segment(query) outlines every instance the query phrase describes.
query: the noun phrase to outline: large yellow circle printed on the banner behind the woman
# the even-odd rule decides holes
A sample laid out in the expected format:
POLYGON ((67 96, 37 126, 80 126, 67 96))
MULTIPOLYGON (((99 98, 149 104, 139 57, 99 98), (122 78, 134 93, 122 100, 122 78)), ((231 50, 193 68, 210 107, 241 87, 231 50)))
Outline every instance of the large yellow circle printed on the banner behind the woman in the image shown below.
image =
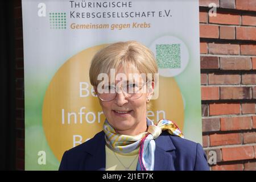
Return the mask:
MULTIPOLYGON (((85 142, 102 130, 105 116, 89 82, 90 61, 107 46, 91 47, 67 60, 53 76, 44 96, 42 119, 47 142, 60 161, 64 151, 85 142)), ((159 97, 152 100, 148 118, 163 117, 182 130, 183 99, 172 77, 159 76, 159 97)))

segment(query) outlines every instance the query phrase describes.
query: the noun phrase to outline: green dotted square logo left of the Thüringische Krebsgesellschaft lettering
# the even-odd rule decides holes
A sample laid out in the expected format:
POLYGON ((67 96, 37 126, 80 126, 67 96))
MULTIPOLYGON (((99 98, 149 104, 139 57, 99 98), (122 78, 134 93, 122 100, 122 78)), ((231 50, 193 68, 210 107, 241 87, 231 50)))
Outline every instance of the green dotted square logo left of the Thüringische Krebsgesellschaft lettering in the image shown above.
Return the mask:
POLYGON ((66 29, 66 13, 49 13, 49 24, 51 29, 66 29))

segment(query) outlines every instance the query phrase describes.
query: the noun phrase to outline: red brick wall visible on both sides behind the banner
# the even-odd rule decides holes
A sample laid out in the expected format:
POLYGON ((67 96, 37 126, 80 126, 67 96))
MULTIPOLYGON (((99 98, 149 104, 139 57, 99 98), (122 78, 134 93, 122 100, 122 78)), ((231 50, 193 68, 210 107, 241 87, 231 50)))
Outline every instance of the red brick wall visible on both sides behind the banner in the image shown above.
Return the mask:
MULTIPOLYGON (((24 169, 21 1, 15 0, 16 169, 24 169)), ((203 147, 212 170, 256 170, 256 0, 200 0, 203 147), (209 3, 217 16, 209 17, 209 3)))

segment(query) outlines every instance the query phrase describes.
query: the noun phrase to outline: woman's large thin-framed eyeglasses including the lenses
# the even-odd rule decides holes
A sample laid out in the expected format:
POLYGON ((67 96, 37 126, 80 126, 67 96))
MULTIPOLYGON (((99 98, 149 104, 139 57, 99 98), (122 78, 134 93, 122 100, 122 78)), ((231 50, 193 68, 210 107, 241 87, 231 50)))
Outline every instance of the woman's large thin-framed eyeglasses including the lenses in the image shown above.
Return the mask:
POLYGON ((123 93, 125 98, 130 100, 136 100, 142 96, 143 93, 146 93, 147 90, 143 89, 144 86, 148 83, 123 83, 121 86, 115 86, 112 84, 104 84, 100 88, 97 88, 97 96, 100 98, 101 101, 113 101, 117 93, 123 93))

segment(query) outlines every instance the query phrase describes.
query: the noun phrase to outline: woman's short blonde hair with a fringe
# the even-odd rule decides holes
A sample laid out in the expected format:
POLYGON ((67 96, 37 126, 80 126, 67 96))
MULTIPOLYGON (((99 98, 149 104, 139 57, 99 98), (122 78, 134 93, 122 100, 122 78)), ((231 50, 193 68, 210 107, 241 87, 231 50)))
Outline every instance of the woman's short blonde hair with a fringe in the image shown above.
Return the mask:
POLYGON ((155 73, 158 73, 154 53, 139 42, 127 41, 110 44, 94 55, 89 71, 90 84, 98 85, 100 80, 97 80, 97 77, 100 73, 109 74, 110 69, 125 69, 130 64, 137 68, 139 73, 152 73, 154 81, 155 73))

